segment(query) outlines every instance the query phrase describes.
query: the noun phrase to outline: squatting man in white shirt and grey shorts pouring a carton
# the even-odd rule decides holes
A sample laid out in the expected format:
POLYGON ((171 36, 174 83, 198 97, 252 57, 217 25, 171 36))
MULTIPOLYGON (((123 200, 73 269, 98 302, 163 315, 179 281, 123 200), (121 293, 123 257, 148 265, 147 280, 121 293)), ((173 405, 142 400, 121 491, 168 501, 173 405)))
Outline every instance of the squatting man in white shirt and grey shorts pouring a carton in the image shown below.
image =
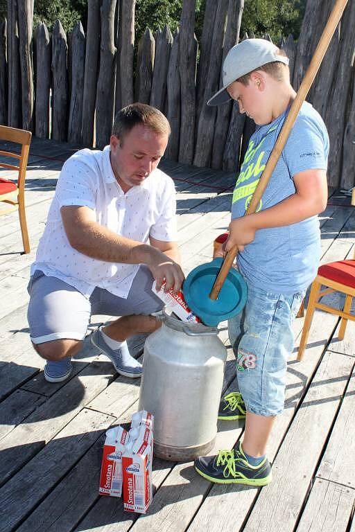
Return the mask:
POLYGON ((159 328, 153 280, 174 291, 184 280, 175 188, 157 169, 169 134, 161 112, 132 104, 116 115, 110 145, 63 165, 28 285, 31 340, 49 382, 69 376, 91 314, 120 316, 92 343, 121 375, 141 375, 126 340, 159 328))

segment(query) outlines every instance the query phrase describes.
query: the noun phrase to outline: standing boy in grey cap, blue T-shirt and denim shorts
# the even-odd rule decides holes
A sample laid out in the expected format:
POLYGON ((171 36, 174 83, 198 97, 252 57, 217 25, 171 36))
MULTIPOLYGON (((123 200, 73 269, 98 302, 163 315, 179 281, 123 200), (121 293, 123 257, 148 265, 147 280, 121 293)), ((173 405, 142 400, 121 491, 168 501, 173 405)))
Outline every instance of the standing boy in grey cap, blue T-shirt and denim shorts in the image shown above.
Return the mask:
POLYGON ((227 54, 223 89, 208 102, 233 98, 257 125, 234 189, 225 243, 225 252, 238 247, 248 302, 228 324, 240 393, 221 400, 218 418, 245 418, 244 438, 232 451, 195 463, 200 475, 217 483, 265 486, 271 480, 266 444, 284 407, 291 325, 317 273, 329 139, 309 103, 300 109, 257 212, 244 216, 295 95, 282 51, 264 39, 246 39, 227 54))

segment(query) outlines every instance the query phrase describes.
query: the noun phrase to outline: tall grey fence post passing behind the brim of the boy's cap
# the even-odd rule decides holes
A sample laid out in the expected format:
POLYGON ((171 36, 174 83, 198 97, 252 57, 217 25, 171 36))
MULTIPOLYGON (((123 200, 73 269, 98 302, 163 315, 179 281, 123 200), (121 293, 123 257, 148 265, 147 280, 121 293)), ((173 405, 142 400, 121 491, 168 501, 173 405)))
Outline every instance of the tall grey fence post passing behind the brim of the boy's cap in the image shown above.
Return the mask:
MULTIPOLYGON (((225 39, 223 42, 222 64, 230 48, 239 42, 239 32, 241 29, 241 16, 243 13, 244 0, 230 0, 227 12, 227 27, 225 29, 225 39)), ((219 88, 223 87, 223 73, 220 69, 219 88)), ((218 105, 214 130, 214 143, 211 156, 211 168, 222 168, 223 152, 225 141, 227 140, 230 117, 232 114, 233 102, 225 105, 218 105)))

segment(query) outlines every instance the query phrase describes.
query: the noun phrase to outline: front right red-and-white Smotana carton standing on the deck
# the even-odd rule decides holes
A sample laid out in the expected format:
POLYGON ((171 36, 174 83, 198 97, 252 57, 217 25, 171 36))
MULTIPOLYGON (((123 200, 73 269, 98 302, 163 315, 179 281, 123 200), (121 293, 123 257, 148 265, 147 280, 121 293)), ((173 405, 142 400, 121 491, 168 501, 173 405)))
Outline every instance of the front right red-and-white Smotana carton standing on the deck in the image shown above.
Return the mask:
POLYGON ((152 423, 141 423, 130 429, 130 443, 122 456, 123 509, 128 512, 146 513, 153 499, 151 418, 152 423))

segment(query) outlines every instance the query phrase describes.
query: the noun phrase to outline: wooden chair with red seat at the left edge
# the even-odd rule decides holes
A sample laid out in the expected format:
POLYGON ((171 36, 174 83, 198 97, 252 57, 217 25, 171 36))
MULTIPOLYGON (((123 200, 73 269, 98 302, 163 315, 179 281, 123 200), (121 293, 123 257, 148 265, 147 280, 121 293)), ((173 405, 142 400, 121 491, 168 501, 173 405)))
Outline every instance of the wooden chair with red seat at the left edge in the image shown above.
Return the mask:
POLYGON ((6 202, 12 205, 8 209, 1 209, 0 215, 17 211, 18 209, 22 242, 24 243, 24 253, 30 252, 25 214, 24 188, 31 136, 32 133, 30 131, 17 130, 15 127, 6 127, 5 125, 0 125, 0 141, 21 144, 20 155, 17 153, 0 150, 1 156, 11 157, 12 159, 17 159, 17 161, 19 161, 18 165, 8 164, 0 161, 0 167, 9 168, 10 170, 17 170, 18 172, 17 184, 13 181, 9 181, 8 179, 3 179, 0 177, 0 202, 6 202))

